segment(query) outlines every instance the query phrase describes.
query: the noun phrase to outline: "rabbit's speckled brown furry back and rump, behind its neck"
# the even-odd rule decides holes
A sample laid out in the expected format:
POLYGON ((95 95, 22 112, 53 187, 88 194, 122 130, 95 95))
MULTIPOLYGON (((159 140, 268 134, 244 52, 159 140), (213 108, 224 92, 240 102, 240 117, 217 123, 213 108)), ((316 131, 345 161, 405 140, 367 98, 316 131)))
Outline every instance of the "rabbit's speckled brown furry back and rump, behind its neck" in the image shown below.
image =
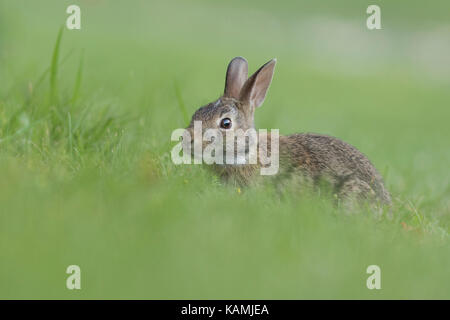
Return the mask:
POLYGON ((280 140, 280 151, 289 165, 315 182, 330 182, 342 197, 361 196, 390 203, 383 179, 370 160, 352 145, 337 138, 314 133, 293 134, 280 140))

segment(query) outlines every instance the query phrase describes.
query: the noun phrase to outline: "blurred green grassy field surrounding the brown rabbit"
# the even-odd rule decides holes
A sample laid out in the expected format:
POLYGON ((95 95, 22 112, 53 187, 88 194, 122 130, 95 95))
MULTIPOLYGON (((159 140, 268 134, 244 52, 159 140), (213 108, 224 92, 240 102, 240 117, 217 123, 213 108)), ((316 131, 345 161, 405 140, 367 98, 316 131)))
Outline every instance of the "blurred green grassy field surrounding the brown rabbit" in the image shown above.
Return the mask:
POLYGON ((0 298, 449 299, 450 5, 314 3, 1 0, 0 298), (238 55, 278 58, 257 127, 355 145, 392 220, 172 163, 238 55))

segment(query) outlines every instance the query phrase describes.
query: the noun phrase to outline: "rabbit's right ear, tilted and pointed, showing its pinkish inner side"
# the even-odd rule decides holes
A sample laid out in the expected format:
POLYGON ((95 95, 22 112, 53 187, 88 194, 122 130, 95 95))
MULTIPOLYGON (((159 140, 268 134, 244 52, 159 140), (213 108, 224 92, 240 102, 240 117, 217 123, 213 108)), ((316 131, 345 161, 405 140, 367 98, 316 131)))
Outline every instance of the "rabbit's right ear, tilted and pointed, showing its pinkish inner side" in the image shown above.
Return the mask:
POLYGON ((262 105, 270 83, 272 82, 276 63, 277 59, 270 60, 248 78, 242 87, 239 100, 245 104, 249 104, 252 108, 257 108, 262 105))

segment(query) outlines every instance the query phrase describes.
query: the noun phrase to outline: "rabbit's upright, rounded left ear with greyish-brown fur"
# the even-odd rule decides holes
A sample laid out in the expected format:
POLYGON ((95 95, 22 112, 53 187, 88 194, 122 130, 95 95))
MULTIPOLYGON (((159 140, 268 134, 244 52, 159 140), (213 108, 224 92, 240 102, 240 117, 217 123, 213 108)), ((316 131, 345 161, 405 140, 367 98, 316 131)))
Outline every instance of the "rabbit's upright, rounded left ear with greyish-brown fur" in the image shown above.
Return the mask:
POLYGON ((236 57, 231 60, 227 69, 225 79, 224 96, 239 99, 239 93, 248 77, 247 60, 242 57, 236 57))

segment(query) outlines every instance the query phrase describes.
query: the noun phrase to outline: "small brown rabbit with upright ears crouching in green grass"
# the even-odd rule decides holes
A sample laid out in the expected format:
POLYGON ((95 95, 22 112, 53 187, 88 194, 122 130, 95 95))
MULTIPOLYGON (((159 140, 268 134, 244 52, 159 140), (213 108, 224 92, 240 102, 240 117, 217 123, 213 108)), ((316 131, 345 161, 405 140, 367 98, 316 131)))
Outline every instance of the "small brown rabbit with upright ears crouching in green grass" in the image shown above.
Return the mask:
MULTIPOLYGON (((229 130, 253 129, 255 109, 264 102, 276 62, 276 59, 270 60, 248 78, 247 61, 242 57, 232 59, 226 72, 224 94, 199 108, 187 130, 193 132, 195 121, 201 121, 203 131, 218 129, 223 134, 229 130)), ((267 134, 266 138, 271 141, 272 137, 267 134)), ((192 138, 185 143, 192 146, 192 138)), ((266 149, 271 152, 270 148, 266 149)), ((337 138, 315 133, 280 136, 278 156, 280 169, 275 178, 281 185, 283 181, 296 181, 300 187, 320 188, 325 181, 337 199, 369 199, 391 204, 383 179, 369 159, 337 138)), ((224 180, 245 186, 263 177, 258 172, 261 166, 258 161, 255 164, 213 164, 211 167, 224 180)))

